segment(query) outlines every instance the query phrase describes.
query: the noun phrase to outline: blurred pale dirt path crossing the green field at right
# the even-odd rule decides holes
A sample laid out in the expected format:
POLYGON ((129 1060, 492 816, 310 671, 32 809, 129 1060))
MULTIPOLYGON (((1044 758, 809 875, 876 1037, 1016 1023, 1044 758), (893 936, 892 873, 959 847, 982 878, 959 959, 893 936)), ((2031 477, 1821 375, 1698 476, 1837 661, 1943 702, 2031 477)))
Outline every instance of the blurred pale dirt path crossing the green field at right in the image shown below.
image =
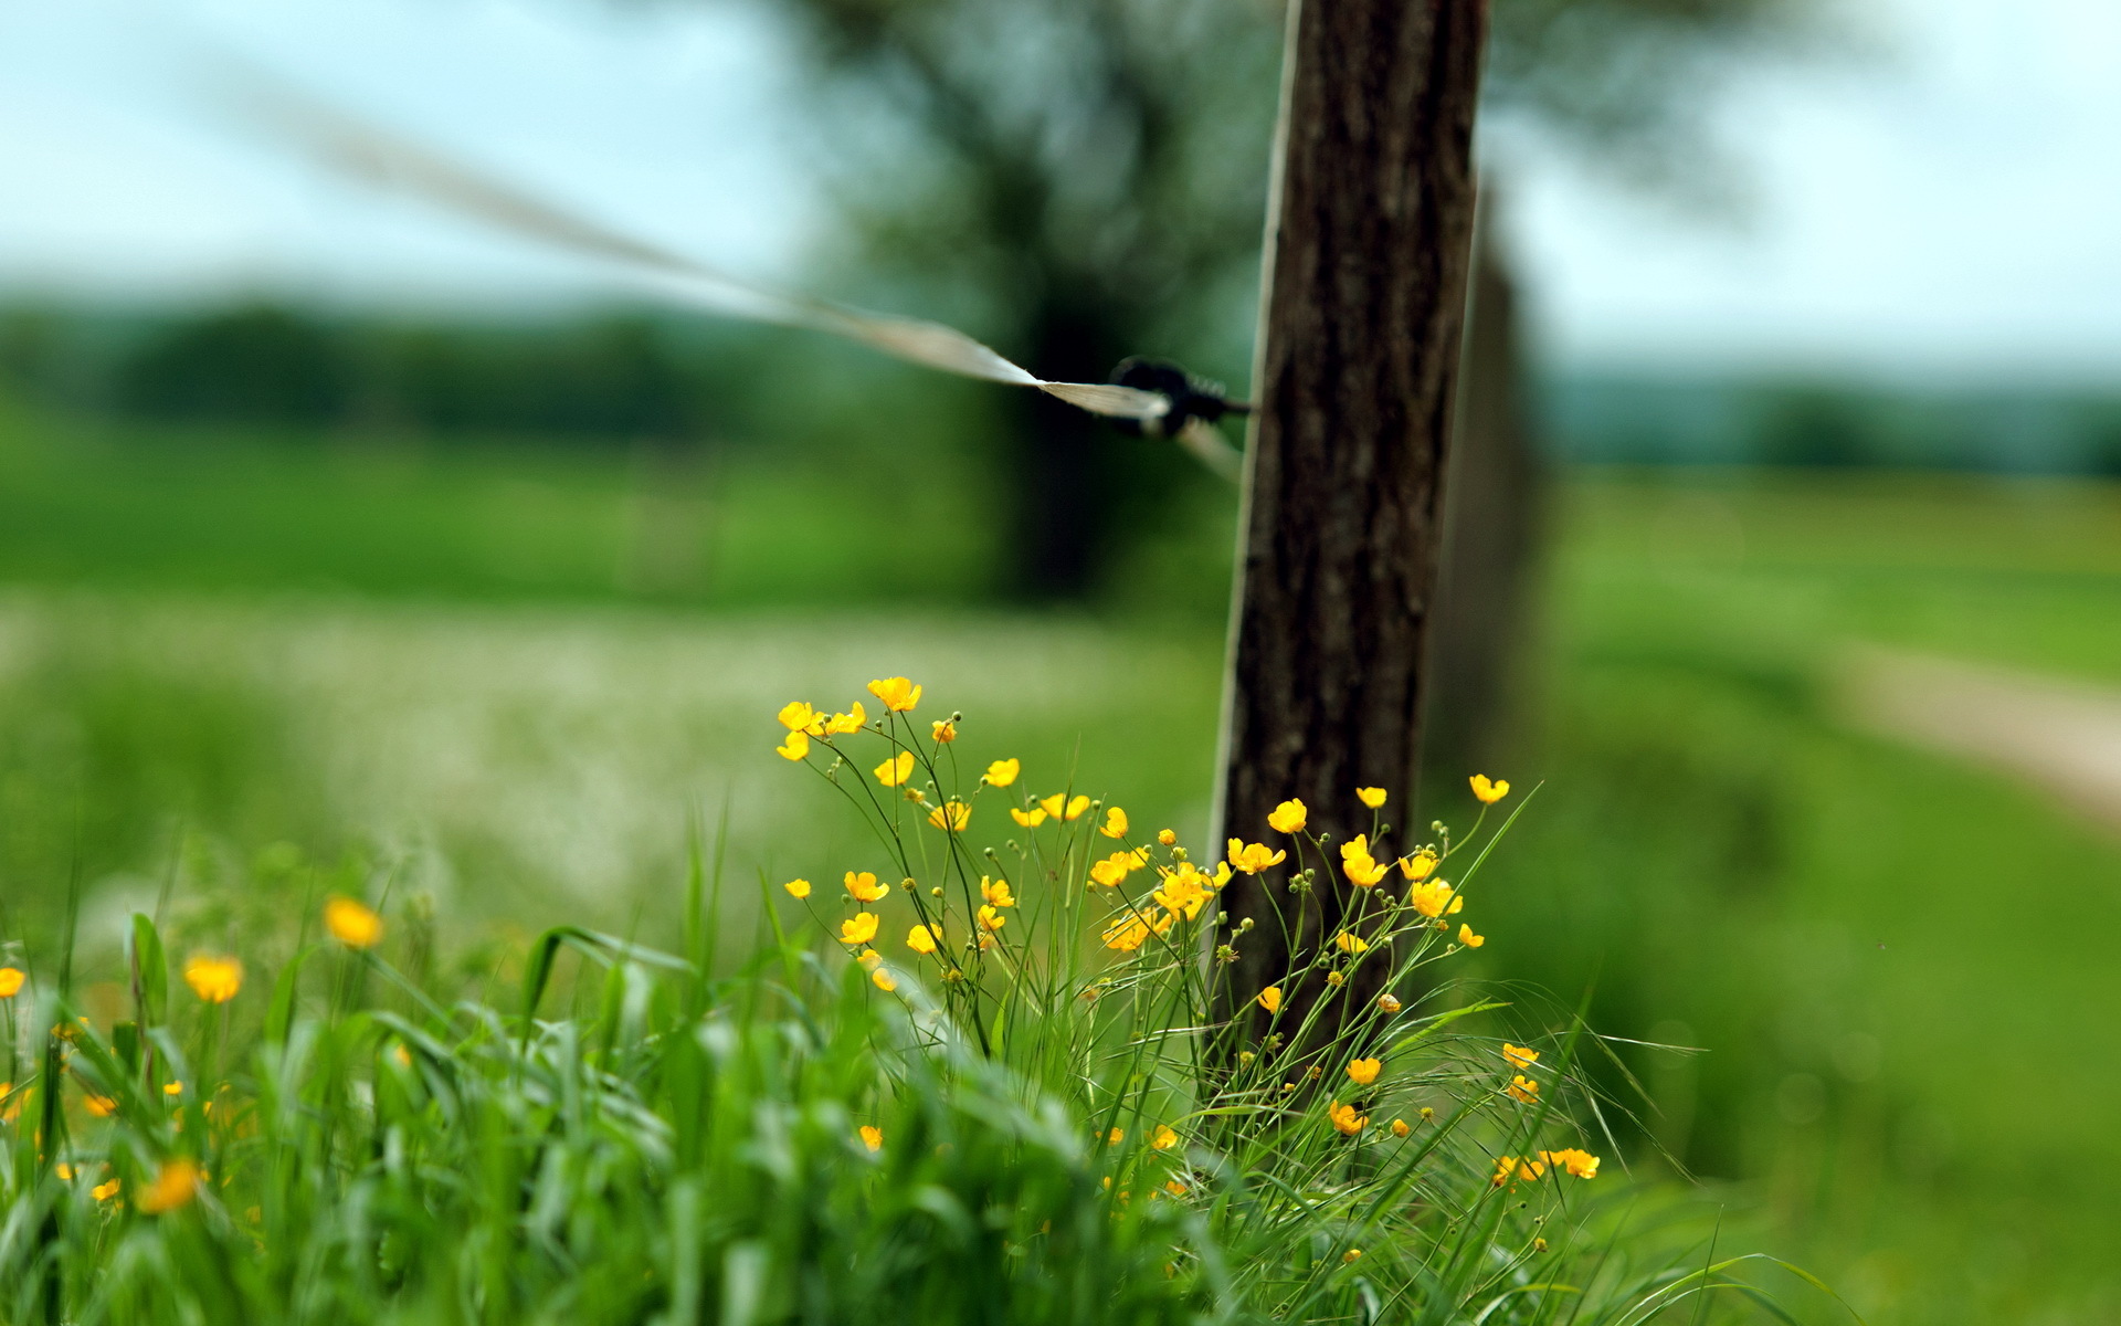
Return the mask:
POLYGON ((1883 649, 1852 656, 1841 681, 1860 726, 2004 768, 2121 830, 2121 692, 1883 649))

